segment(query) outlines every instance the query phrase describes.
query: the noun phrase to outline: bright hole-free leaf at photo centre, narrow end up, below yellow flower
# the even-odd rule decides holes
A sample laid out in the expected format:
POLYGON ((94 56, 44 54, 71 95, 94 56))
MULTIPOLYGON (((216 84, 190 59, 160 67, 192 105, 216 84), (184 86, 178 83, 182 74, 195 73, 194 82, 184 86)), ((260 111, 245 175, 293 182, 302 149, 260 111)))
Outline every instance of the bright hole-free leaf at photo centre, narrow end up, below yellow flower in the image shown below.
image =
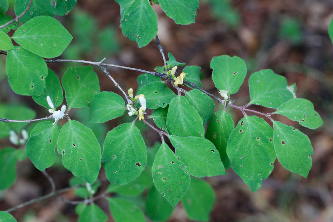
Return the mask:
POLYGON ((171 100, 166 115, 166 127, 171 135, 197 137, 204 135, 199 113, 183 96, 171 100))

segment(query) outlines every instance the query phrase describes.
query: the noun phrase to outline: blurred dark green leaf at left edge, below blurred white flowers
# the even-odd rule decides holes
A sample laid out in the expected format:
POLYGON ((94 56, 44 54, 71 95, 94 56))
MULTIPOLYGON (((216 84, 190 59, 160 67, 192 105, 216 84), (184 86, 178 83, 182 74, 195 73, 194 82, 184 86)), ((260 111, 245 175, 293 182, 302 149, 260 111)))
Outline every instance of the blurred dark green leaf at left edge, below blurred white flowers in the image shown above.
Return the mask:
POLYGON ((17 153, 14 148, 0 149, 0 190, 9 188, 15 182, 16 163, 17 153))

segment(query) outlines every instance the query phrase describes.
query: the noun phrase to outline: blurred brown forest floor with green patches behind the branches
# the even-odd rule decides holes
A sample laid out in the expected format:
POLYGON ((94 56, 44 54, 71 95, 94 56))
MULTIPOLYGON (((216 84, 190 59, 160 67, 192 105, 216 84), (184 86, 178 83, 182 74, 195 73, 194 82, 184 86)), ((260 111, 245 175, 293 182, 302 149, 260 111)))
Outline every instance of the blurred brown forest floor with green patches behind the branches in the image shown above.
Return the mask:
MULTIPOLYGON (((10 1, 8 15, 14 15, 14 1, 10 1)), ((226 176, 205 178, 214 188, 216 201, 210 221, 333 221, 333 44, 327 29, 333 17, 332 0, 199 0, 200 6, 194 24, 176 25, 168 18, 159 5, 153 6, 158 14, 158 36, 165 54, 171 52, 177 61, 186 65, 197 65, 203 73, 202 87, 217 94, 211 80, 210 60, 213 56, 227 54, 245 60, 248 73, 237 94, 232 95, 236 105, 249 101, 248 78, 260 69, 272 69, 287 78, 288 84, 296 82, 297 97, 313 102, 324 124, 309 130, 297 122, 277 115, 275 120, 295 126, 311 140, 314 153, 312 168, 308 177, 302 178, 285 170, 275 161, 274 171, 264 180, 262 187, 253 193, 230 168, 226 176)), ((162 66, 163 60, 155 40, 143 48, 122 34, 120 7, 110 0, 80 0, 67 16, 56 18, 73 35, 73 41, 65 50, 62 59, 84 59, 123 65, 154 71, 162 66)), ((12 31, 13 32, 13 31, 12 31)), ((9 33, 10 36, 12 33, 9 33)), ((1 104, 25 105, 36 112, 36 118, 48 115, 29 96, 15 94, 5 73, 5 55, 0 55, 0 99, 1 104)), ((83 64, 48 64, 59 78, 70 66, 83 64)), ((94 67, 100 80, 101 91, 121 94, 112 81, 94 67)), ((126 91, 138 87, 139 72, 108 68, 115 80, 126 91)), ((186 86, 185 86, 186 88, 186 86)), ((187 88, 188 89, 188 88, 187 88)), ((0 105, 1 105, 0 104, 0 105)), ((215 111, 223 110, 215 103, 215 111)), ((269 112, 264 107, 252 109, 269 112)), ((27 108, 21 108, 22 112, 27 108)), ((17 109, 17 112, 21 112, 17 109)), ((238 110, 227 109, 234 122, 242 118, 238 110)), ((86 122, 89 108, 73 109, 71 118, 86 122)), ((0 116, 1 117, 1 116, 0 116)), ((132 121, 123 117, 104 124, 91 124, 100 144, 106 133, 117 125, 132 121)), ((152 120, 150 120, 152 121, 152 120)), ((66 120, 60 120, 62 125, 66 120)), ((147 146, 153 146, 160 137, 142 122, 141 129, 147 146)), ((26 126, 30 133, 34 124, 26 126)), ((1 148, 13 146, 8 137, 0 140, 1 148)), ((61 164, 60 155, 55 164, 47 169, 55 180, 57 189, 69 186, 72 174, 61 164)), ((105 179, 104 169, 99 178, 105 179)), ((100 190, 105 190, 103 183, 100 190)), ((51 186, 44 175, 29 159, 17 164, 17 179, 13 186, 0 191, 0 209, 18 205, 30 199, 45 195, 51 186)), ((133 197, 144 208, 145 191, 133 197)), ((62 195, 68 200, 80 200, 73 191, 62 195)), ((106 200, 97 204, 109 215, 106 200)), ((18 221, 76 221, 75 206, 65 204, 51 197, 12 212, 18 221)), ((168 221, 189 221, 181 204, 178 204, 168 221)))

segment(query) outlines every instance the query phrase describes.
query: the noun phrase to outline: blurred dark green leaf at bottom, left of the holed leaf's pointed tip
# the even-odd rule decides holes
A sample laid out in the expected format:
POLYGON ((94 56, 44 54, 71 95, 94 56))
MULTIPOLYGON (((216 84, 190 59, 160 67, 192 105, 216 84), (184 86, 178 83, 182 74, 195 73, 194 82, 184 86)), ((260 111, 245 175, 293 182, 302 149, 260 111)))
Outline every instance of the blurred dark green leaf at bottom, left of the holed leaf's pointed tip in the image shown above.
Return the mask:
POLYGON ((170 203, 152 186, 146 199, 147 216, 154 221, 166 221, 172 210, 170 203))

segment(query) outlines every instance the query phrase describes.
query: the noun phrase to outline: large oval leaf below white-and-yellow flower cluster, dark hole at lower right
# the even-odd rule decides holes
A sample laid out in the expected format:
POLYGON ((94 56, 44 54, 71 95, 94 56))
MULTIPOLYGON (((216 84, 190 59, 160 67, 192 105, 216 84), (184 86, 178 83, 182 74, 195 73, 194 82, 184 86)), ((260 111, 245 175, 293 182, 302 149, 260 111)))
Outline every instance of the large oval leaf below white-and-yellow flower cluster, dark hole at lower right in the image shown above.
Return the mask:
POLYGON ((126 184, 146 167, 146 145, 134 123, 121 124, 108 132, 103 147, 102 163, 111 183, 126 184))

